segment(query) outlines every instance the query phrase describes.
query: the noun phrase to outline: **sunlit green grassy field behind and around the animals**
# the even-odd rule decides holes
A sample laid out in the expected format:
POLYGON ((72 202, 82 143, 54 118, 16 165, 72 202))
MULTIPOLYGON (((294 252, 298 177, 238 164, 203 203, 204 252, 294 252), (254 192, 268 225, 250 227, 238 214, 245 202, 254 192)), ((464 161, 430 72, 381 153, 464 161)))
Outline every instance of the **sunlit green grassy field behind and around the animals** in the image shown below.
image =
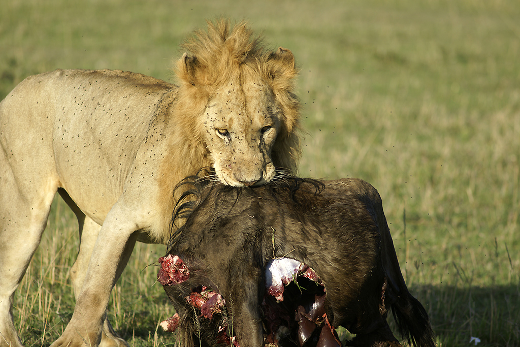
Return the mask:
MULTIPOLYGON (((171 80, 180 40, 218 15, 247 19, 272 47, 292 50, 307 131, 300 174, 378 188, 438 345, 519 346, 517 1, 3 0, 0 99, 56 68, 171 80)), ((72 315, 77 242, 57 199, 15 299, 26 346, 49 345, 72 315)), ((112 293, 112 323, 131 345, 175 343, 157 329, 173 309, 147 267, 164 250, 136 247, 112 293)))

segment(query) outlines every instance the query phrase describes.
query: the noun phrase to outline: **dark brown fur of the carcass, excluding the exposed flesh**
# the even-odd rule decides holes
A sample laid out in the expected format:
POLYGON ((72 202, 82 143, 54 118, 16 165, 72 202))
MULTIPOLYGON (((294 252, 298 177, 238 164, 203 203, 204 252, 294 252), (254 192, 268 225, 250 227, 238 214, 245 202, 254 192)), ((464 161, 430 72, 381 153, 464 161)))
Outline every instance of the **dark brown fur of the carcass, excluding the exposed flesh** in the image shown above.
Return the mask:
POLYGON ((330 324, 356 334, 347 345, 399 346, 386 323, 390 307, 403 338, 435 345, 426 311, 401 275, 381 198, 367 182, 288 178, 254 188, 209 185, 196 194, 196 202, 177 211, 177 220, 187 206, 189 214, 168 250, 185 262, 190 278, 164 286, 180 316, 181 345, 223 345, 217 331, 226 316, 241 347, 263 346, 265 268, 282 256, 321 278, 330 324), (201 285, 226 300, 220 318, 199 317, 186 302, 201 285))

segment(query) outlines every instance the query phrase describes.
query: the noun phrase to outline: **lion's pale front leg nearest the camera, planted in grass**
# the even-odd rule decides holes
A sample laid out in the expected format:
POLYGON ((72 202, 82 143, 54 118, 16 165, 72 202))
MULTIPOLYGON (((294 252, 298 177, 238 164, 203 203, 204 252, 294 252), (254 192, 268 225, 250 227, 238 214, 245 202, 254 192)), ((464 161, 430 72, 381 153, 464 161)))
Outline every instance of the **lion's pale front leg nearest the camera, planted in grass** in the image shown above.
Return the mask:
POLYGON ((134 233, 136 224, 124 214, 116 213, 118 210, 114 205, 101 227, 72 318, 51 347, 127 345, 114 335, 108 323, 105 324, 110 292, 123 272, 137 239, 134 233), (106 339, 101 341, 103 330, 107 330, 108 334, 105 331, 106 339))

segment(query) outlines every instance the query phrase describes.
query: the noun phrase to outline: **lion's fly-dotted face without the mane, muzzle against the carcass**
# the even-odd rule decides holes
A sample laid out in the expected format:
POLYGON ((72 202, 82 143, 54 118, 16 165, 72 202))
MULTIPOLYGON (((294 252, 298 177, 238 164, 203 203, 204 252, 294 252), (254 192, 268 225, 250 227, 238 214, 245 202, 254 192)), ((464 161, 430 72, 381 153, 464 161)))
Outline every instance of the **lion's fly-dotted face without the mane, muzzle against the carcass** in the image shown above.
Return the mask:
POLYGON ((279 113, 271 89, 259 80, 230 82, 213 95, 203 115, 204 134, 222 183, 251 186, 274 177, 279 113))

